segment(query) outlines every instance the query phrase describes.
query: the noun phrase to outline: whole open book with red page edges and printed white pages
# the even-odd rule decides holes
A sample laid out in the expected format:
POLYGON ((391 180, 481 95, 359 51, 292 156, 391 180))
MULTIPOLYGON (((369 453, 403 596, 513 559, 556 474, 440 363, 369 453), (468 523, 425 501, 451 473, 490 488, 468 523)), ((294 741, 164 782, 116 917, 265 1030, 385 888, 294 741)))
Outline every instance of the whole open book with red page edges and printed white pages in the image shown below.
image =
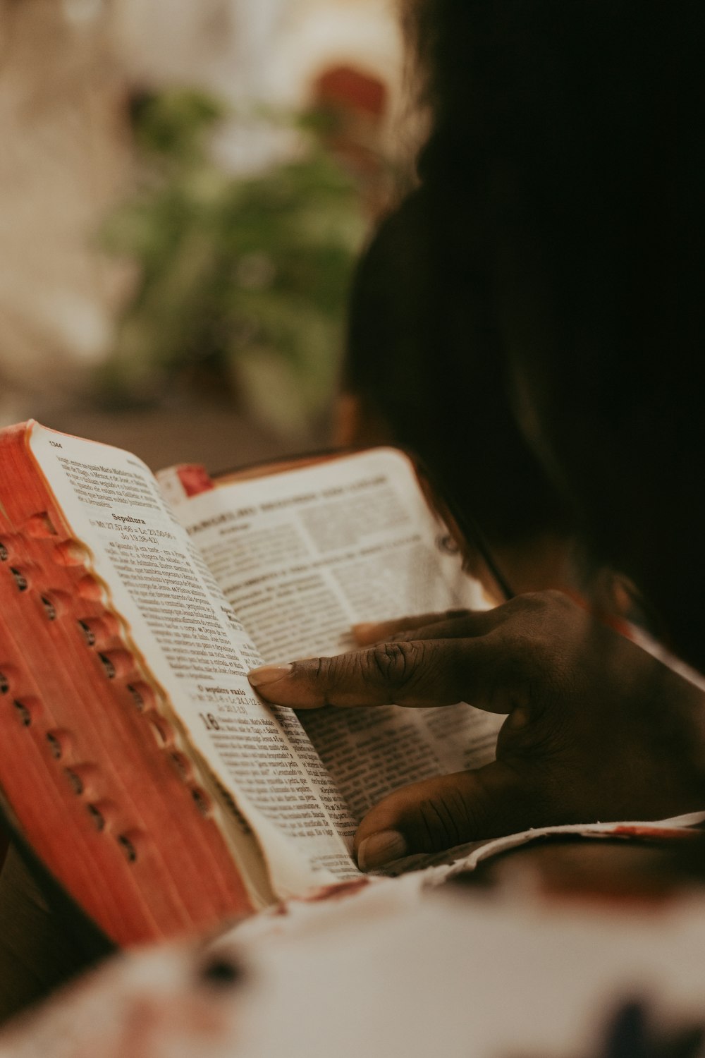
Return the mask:
POLYGON ((486 605, 392 449, 217 482, 29 422, 0 433, 0 790, 120 944, 359 877, 392 789, 493 759, 501 717, 265 706, 264 661, 356 621, 486 605))

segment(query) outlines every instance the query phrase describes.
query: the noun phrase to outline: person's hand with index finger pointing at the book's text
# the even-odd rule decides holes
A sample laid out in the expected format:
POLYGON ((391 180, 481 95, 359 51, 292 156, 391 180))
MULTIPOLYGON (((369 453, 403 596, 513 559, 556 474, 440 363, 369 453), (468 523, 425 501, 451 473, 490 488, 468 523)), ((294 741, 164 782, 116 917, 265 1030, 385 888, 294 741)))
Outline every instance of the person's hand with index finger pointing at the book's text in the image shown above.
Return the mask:
POLYGON ((560 592, 368 625, 361 638, 376 642, 251 681, 295 709, 465 700, 508 713, 493 764, 405 786, 368 813, 355 836, 364 869, 532 826, 705 806, 705 694, 560 592))

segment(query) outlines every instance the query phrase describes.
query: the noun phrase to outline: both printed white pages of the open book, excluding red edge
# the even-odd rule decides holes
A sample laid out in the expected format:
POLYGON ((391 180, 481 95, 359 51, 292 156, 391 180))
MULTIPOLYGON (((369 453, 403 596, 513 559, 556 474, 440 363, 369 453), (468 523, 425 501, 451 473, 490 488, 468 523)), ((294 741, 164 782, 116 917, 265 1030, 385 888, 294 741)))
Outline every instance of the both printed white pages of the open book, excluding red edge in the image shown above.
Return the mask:
POLYGON ((108 675, 117 688, 124 664, 137 709, 166 722, 169 756, 196 776, 197 807, 253 908, 357 878, 352 836, 372 804, 491 760, 501 717, 467 705, 298 717, 246 679, 263 661, 351 649, 358 621, 486 605, 406 455, 368 450, 193 490, 178 470, 160 487, 135 456, 37 423, 24 443, 85 548, 91 587, 77 594, 115 625, 125 658, 111 641, 108 675))

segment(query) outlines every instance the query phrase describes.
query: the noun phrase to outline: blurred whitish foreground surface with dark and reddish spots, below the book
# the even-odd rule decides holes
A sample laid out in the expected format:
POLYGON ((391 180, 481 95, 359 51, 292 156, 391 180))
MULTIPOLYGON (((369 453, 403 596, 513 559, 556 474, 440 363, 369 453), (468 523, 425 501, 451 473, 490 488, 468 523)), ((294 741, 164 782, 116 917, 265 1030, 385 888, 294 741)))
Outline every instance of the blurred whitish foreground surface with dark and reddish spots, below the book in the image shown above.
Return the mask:
POLYGON ((702 880, 645 887, 639 862, 626 890, 615 888, 619 871, 593 867, 592 893, 556 891, 555 870, 552 887, 535 860, 507 863, 499 893, 423 893, 406 875, 344 898, 292 901, 208 943, 110 960, 11 1024, 0 1056, 704 1053, 702 880), (611 883, 595 889, 600 876, 611 883))

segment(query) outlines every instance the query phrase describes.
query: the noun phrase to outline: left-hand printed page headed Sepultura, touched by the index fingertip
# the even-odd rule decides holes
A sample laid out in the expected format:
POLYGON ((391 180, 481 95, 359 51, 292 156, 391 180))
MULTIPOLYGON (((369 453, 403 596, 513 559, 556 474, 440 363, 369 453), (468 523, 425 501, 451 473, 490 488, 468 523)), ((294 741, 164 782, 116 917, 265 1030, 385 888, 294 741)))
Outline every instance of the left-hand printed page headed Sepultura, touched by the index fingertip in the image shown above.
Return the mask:
MULTIPOLYGON (((356 877, 353 823, 301 725, 246 672, 260 655, 135 456, 35 423, 31 451, 107 586, 162 708, 233 796, 279 895, 356 877), (345 836, 345 837, 341 837, 345 836)), ((225 799, 227 803, 227 799, 225 799)))

